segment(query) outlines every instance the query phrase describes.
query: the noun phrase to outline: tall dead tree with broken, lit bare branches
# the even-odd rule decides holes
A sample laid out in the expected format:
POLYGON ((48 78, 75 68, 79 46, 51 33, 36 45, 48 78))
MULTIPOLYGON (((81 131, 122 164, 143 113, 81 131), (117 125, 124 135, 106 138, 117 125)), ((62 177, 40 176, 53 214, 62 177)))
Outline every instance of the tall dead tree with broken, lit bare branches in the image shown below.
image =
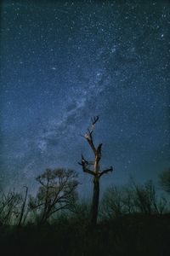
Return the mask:
POLYGON ((113 171, 112 166, 108 169, 105 169, 104 171, 100 171, 100 168, 99 168, 99 161, 101 159, 102 143, 100 143, 98 147, 95 147, 94 139, 93 139, 94 125, 97 123, 98 120, 99 120, 99 116, 94 116, 94 118, 91 119, 91 121, 92 121, 91 128, 88 129, 88 131, 83 136, 83 137, 85 137, 90 148, 92 148, 92 150, 94 152, 94 161, 85 160, 85 158, 82 155, 82 161, 81 161, 81 163, 79 163, 79 165, 82 166, 82 171, 87 172, 88 174, 91 174, 94 178, 94 194, 93 194, 93 201, 92 201, 92 207, 91 207, 91 223, 93 225, 97 224, 97 218, 98 218, 99 178, 102 177, 104 174, 113 171), (91 169, 90 166, 92 166, 93 169, 91 169))

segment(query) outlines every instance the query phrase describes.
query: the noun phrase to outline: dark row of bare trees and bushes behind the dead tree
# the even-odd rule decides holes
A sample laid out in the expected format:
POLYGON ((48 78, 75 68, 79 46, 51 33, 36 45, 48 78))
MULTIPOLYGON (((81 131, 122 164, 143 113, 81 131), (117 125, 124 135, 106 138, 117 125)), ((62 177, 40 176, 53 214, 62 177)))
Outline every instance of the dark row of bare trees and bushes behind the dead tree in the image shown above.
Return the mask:
MULTIPOLYGON (((167 192, 168 173, 169 170, 159 177, 160 187, 167 192)), ((71 218, 83 217, 85 212, 90 215, 91 199, 85 202, 79 198, 76 172, 62 168, 47 169, 36 179, 39 188, 35 196, 29 195, 28 187, 23 188, 22 194, 14 190, 6 194, 1 192, 1 225, 53 224, 61 213, 71 218)), ((128 186, 112 185, 105 190, 99 202, 99 222, 127 214, 162 215, 169 211, 168 196, 160 195, 151 180, 144 184, 136 184, 132 180, 128 186)))

